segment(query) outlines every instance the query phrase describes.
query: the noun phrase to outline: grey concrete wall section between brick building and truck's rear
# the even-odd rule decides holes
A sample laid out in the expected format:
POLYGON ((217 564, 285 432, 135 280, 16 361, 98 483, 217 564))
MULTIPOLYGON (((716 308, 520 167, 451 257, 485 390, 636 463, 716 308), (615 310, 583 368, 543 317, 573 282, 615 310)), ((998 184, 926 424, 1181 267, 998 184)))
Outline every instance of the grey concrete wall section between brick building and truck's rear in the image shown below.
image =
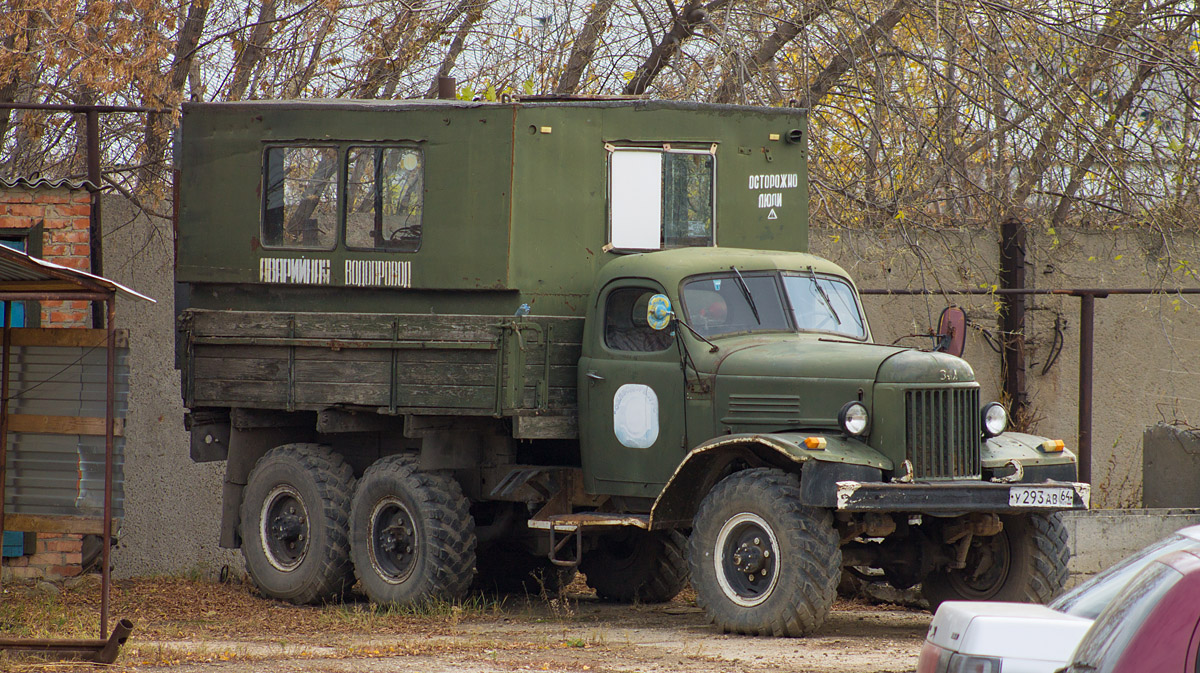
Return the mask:
POLYGON ((217 547, 224 463, 192 463, 174 368, 175 244, 170 222, 121 198, 106 198, 104 276, 157 304, 119 298, 116 324, 130 330, 130 415, 125 444, 125 523, 114 577, 215 575, 241 567, 217 547))

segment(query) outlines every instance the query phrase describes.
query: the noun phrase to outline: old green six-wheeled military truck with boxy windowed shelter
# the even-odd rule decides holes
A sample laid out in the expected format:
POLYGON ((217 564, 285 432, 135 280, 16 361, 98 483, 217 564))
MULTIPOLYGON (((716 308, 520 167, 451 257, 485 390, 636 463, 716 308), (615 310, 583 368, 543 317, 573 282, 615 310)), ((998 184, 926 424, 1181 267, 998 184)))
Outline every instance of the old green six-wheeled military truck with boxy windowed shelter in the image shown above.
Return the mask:
POLYGON ((808 250, 806 116, 185 104, 178 366, 263 594, 665 601, 804 635, 844 573, 1044 600, 1085 509, 964 360, 808 250), (871 570, 874 569, 874 570, 871 570))

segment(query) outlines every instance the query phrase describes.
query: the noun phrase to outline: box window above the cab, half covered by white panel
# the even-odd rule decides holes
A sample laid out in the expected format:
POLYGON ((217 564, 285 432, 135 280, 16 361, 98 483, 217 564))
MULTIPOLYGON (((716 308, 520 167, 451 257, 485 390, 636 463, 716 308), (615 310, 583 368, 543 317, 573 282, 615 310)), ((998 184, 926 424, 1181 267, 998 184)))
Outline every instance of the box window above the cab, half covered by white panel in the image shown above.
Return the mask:
POLYGON ((608 232, 618 250, 716 245, 716 145, 608 149, 608 232))

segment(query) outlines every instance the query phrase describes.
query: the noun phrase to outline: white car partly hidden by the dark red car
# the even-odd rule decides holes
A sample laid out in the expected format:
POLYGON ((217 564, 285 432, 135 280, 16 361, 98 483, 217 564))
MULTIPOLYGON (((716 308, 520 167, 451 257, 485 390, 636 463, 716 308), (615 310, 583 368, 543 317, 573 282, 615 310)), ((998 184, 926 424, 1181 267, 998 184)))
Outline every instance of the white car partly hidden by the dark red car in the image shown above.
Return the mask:
POLYGON ((1054 673, 1138 571, 1177 549, 1200 549, 1200 525, 1142 548, 1048 606, 947 601, 929 625, 917 673, 1054 673))

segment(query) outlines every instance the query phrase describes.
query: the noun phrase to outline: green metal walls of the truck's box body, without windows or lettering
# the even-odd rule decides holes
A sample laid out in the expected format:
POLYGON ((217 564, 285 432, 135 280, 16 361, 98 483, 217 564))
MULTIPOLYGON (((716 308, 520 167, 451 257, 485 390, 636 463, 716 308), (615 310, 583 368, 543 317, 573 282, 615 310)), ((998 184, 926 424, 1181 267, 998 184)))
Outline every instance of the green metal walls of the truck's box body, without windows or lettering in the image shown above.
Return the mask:
MULTIPOLYGON (((715 148, 716 241, 808 247, 803 110, 662 101, 467 103, 272 101, 184 106, 181 300, 198 308, 582 316, 606 251, 610 146, 715 148), (774 138, 774 139, 773 139, 774 138), (415 148, 425 156, 416 252, 269 250, 264 152, 272 146, 415 148), (760 208, 754 176, 798 176, 760 208), (774 218, 770 218, 774 217, 774 218), (328 286, 263 283, 263 260, 328 264, 328 286), (348 262, 408 263, 410 287, 347 287, 348 262), (438 290, 438 292, 428 292, 438 290), (485 290, 485 292, 480 292, 485 290), (494 292, 487 292, 494 290, 494 292)), ((344 180, 344 161, 338 174, 344 180)))

